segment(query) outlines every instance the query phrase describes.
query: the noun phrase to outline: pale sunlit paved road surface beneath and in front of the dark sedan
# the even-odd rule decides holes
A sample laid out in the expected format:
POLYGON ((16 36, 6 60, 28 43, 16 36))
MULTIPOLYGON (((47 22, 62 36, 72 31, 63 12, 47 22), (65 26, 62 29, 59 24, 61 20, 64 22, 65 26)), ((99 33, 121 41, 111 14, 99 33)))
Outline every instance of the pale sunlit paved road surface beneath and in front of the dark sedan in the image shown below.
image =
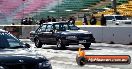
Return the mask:
MULTIPOLYGON (((32 42, 28 42, 32 46, 32 42)), ((75 62, 75 57, 79 45, 70 46, 66 50, 58 50, 55 45, 43 45, 36 52, 45 55, 50 59, 53 69, 132 69, 129 65, 85 65, 80 67, 75 62)), ((83 47, 82 47, 83 48, 83 47)), ((87 55, 130 55, 132 56, 132 45, 93 43, 89 50, 85 50, 87 55)))

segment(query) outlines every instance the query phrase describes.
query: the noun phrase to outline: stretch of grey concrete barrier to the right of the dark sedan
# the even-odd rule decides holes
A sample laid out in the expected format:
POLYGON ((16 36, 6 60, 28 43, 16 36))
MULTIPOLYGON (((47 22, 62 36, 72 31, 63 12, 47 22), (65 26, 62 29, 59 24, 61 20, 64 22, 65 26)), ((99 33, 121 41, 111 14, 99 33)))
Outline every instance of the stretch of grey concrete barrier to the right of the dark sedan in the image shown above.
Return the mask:
POLYGON ((80 29, 88 30, 93 33, 96 42, 105 43, 132 43, 132 27, 126 26, 78 26, 80 29))

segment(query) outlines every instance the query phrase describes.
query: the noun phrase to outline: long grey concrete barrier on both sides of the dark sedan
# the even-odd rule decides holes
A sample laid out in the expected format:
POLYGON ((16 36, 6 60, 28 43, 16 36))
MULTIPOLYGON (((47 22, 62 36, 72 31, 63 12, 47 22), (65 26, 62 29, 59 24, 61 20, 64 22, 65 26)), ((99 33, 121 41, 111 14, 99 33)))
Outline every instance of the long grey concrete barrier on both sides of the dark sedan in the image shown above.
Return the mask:
MULTIPOLYGON (((29 38, 30 31, 36 30, 38 25, 13 25, 11 27, 19 27, 19 38, 29 38), (20 32, 21 31, 21 32, 20 32)), ((0 25, 1 29, 10 27, 10 25, 0 25)), ((132 43, 132 27, 127 26, 84 26, 79 25, 80 29, 87 30, 93 34, 96 42, 105 43, 119 43, 119 44, 130 44, 132 43)))

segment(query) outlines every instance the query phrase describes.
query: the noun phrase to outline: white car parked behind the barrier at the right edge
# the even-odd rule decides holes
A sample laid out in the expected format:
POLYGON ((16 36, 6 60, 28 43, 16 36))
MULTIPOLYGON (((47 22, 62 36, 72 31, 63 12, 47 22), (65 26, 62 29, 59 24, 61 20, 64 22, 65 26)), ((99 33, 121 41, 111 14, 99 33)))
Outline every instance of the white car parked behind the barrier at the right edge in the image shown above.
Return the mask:
POLYGON ((107 25, 131 25, 132 20, 123 15, 105 15, 107 25))

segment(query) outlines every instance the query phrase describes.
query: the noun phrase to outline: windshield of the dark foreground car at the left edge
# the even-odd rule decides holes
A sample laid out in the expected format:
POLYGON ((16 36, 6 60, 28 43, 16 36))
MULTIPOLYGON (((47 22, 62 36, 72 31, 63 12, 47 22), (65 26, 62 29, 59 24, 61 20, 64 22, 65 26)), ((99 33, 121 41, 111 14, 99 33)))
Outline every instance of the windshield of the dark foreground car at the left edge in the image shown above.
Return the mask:
POLYGON ((0 48, 22 48, 23 43, 7 32, 0 32, 0 48))

